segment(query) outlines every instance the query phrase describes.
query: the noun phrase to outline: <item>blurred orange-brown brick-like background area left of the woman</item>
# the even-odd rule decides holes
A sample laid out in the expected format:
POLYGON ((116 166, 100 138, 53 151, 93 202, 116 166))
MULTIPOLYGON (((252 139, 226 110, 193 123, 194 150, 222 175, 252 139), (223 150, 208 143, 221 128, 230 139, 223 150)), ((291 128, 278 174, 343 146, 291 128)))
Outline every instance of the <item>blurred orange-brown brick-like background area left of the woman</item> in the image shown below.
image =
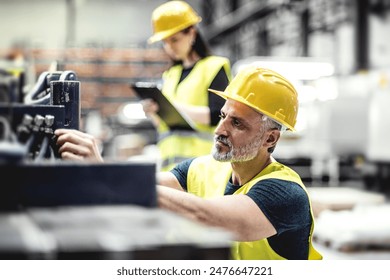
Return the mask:
POLYGON ((36 77, 53 62, 57 70, 73 70, 80 81, 82 111, 100 110, 104 117, 115 114, 123 102, 134 100, 130 83, 157 81, 169 66, 161 49, 33 49, 29 55, 36 77))

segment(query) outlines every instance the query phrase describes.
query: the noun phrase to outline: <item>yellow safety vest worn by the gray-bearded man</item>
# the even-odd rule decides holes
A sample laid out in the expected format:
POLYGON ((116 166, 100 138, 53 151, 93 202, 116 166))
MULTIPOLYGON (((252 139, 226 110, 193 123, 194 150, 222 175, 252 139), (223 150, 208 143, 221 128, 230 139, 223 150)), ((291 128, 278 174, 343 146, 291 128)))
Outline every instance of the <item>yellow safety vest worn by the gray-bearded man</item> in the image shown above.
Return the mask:
MULTIPOLYGON (((187 191, 203 198, 223 196, 231 175, 232 168, 229 162, 218 162, 214 160, 212 156, 198 157, 192 161, 188 170, 187 191)), ((302 180, 295 171, 279 162, 273 162, 257 174, 251 181, 244 184, 233 195, 246 194, 257 182, 265 179, 292 181, 300 185, 306 191, 302 180)), ((312 244, 314 218, 311 205, 310 212, 313 223, 308 239, 309 260, 321 260, 321 254, 314 249, 312 244)), ((232 259, 236 260, 285 259, 271 248, 266 238, 252 242, 234 242, 231 248, 231 255, 232 259)))

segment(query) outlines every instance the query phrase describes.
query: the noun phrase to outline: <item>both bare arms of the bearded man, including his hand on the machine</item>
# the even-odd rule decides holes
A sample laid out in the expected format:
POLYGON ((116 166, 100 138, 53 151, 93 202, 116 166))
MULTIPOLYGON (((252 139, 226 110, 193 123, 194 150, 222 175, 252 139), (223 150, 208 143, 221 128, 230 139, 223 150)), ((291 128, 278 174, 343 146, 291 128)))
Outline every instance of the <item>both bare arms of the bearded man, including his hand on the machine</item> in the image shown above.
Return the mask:
MULTIPOLYGON (((57 144, 62 158, 102 162, 97 140, 86 133, 58 129, 57 144)), ((236 235, 237 240, 253 241, 276 234, 275 228, 246 195, 226 195, 203 199, 183 191, 170 172, 158 175, 157 199, 161 208, 174 211, 194 221, 222 227, 236 235), (164 185, 164 186, 163 186, 164 185)))

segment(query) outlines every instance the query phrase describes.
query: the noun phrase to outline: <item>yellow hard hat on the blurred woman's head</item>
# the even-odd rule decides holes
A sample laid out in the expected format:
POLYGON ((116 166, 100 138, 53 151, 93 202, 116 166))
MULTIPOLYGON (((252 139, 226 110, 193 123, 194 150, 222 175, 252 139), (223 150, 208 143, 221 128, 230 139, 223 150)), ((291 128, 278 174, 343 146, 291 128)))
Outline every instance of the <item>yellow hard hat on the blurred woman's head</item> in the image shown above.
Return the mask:
POLYGON ((168 1, 152 13, 153 36, 148 43, 161 41, 181 30, 199 23, 202 18, 184 1, 168 1))

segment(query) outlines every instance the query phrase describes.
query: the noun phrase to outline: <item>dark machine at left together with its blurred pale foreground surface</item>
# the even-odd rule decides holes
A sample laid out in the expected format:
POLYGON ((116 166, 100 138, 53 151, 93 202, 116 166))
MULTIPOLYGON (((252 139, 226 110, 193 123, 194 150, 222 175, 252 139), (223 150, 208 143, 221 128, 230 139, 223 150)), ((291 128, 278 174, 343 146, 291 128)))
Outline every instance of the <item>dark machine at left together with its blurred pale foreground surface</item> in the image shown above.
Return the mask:
POLYGON ((0 259, 229 258, 229 233, 156 207, 154 162, 61 160, 54 131, 80 126, 74 72, 22 96, 1 81, 0 259))

